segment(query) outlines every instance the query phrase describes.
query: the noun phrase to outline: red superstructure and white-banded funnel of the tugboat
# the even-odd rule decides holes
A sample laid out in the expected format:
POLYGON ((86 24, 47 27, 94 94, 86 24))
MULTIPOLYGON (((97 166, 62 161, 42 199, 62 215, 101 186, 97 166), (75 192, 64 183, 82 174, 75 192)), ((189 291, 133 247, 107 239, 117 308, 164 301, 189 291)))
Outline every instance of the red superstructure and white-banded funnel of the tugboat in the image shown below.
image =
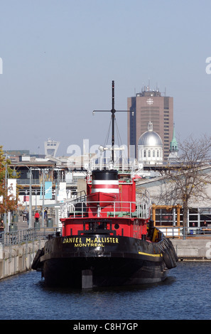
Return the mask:
POLYGON ((136 203, 135 178, 130 173, 96 170, 87 178, 87 201, 73 202, 62 218, 63 237, 109 230, 111 235, 145 238, 150 218, 148 198, 136 203))

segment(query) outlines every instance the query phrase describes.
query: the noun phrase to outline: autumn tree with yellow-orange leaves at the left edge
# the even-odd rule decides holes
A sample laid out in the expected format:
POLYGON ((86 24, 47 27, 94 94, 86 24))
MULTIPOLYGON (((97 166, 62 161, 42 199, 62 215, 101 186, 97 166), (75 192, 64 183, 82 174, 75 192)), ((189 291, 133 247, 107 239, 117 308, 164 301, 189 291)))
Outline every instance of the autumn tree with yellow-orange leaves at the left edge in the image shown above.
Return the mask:
POLYGON ((9 159, 5 159, 3 147, 0 146, 0 213, 13 211, 17 208, 17 196, 16 198, 13 195, 8 193, 8 190, 12 190, 8 188, 5 182, 5 176, 7 178, 16 178, 17 176, 13 176, 13 168, 10 167, 11 161, 9 159), (6 171, 7 169, 7 171, 6 171))

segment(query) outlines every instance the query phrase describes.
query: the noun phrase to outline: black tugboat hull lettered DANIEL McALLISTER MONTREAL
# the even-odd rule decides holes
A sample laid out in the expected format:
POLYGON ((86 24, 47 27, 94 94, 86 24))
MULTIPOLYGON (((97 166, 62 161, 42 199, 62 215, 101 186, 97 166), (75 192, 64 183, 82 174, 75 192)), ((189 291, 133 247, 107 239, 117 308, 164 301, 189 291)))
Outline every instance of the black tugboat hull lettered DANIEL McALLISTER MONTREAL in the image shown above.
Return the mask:
POLYGON ((131 237, 92 235, 48 240, 32 267, 42 271, 48 286, 88 289, 160 282, 176 261, 166 238, 150 243, 131 237))

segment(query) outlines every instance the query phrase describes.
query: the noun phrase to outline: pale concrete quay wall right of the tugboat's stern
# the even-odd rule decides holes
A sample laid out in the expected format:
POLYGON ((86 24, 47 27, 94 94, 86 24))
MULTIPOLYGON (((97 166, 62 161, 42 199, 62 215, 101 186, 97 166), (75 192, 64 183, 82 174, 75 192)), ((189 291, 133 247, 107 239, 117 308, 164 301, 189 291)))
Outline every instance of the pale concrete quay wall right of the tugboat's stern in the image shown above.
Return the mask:
POLYGON ((171 239, 179 260, 211 261, 211 235, 171 239))

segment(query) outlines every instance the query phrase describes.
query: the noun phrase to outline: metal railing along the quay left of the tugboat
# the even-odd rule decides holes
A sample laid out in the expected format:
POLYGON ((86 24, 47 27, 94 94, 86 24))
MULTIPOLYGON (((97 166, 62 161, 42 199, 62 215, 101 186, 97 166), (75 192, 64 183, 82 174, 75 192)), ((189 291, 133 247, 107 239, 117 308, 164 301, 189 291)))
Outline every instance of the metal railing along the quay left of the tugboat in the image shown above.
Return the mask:
POLYGON ((56 227, 43 227, 43 228, 28 228, 26 230, 16 230, 13 232, 1 232, 0 244, 3 247, 11 246, 14 244, 23 244, 25 242, 33 242, 38 239, 48 239, 49 235, 55 235, 56 232, 60 232, 60 229, 56 227))

